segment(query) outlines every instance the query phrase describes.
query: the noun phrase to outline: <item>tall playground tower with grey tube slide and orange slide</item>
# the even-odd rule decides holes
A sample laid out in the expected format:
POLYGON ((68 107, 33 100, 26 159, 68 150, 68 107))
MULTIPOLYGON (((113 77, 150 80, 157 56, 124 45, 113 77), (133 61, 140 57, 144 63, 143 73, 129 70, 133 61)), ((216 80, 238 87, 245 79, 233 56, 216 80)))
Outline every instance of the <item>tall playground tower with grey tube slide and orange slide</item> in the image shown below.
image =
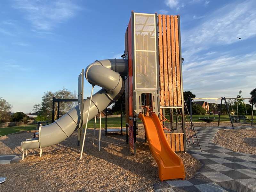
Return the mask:
POLYGON ((179 15, 132 11, 125 32, 124 59, 96 60, 84 73, 82 70, 78 80, 78 105, 52 124, 40 126, 39 137, 23 141, 22 159, 27 149, 40 148, 41 156, 42 148, 67 139, 76 130, 82 159, 88 121, 93 117, 96 121, 97 114, 119 100, 125 90, 126 134, 129 132, 133 153, 136 154, 138 120, 141 119, 159 167, 159 179, 185 178, 183 161, 175 154, 186 152, 179 15), (92 84, 91 96, 86 100, 83 99, 83 74, 92 84), (93 94, 95 85, 102 89, 93 94), (164 126, 165 109, 180 111, 182 132, 178 129, 176 133, 164 132, 168 130, 164 126))

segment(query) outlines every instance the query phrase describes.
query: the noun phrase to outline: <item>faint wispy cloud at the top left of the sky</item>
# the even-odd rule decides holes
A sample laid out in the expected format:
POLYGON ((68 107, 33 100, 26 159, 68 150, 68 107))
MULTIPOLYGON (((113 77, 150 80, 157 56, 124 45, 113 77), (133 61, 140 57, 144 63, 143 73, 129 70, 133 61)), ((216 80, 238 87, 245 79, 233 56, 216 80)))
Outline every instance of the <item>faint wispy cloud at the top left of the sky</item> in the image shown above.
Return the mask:
POLYGON ((25 12, 25 18, 38 30, 51 30, 57 23, 61 23, 76 15, 80 8, 72 1, 33 1, 15 0, 13 8, 25 12))

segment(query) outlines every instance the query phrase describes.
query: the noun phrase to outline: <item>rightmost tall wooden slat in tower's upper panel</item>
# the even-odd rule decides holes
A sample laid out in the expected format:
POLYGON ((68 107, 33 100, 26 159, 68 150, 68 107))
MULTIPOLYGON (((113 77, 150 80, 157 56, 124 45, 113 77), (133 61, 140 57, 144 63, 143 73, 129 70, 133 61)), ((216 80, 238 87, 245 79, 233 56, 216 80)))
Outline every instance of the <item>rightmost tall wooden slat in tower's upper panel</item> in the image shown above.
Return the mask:
POLYGON ((177 68, 177 93, 178 93, 178 105, 181 106, 181 81, 180 81, 180 48, 179 48, 179 29, 178 29, 178 17, 174 16, 175 27, 175 53, 176 53, 176 68, 177 68))

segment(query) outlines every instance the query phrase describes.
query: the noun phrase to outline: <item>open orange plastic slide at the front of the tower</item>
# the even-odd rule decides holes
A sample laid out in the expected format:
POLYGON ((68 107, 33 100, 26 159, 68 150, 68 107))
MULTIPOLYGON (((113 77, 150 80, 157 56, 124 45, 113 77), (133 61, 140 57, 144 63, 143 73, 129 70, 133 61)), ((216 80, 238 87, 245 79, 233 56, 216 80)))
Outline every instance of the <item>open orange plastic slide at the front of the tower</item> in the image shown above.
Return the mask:
POLYGON ((161 181, 169 179, 185 179, 182 159, 177 156, 164 135, 163 126, 155 113, 151 116, 139 114, 147 135, 148 145, 158 164, 158 175, 161 181))

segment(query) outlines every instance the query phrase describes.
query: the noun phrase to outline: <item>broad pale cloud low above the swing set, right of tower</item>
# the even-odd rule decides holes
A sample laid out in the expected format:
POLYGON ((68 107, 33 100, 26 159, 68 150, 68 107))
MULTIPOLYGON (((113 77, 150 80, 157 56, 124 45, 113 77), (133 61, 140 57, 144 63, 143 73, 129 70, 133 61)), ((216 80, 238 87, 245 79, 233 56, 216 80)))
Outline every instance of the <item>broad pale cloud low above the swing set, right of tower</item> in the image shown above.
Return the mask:
POLYGON ((256 52, 183 63, 184 89, 194 91, 197 97, 234 97, 239 90, 249 97, 256 82, 255 66, 256 52))

